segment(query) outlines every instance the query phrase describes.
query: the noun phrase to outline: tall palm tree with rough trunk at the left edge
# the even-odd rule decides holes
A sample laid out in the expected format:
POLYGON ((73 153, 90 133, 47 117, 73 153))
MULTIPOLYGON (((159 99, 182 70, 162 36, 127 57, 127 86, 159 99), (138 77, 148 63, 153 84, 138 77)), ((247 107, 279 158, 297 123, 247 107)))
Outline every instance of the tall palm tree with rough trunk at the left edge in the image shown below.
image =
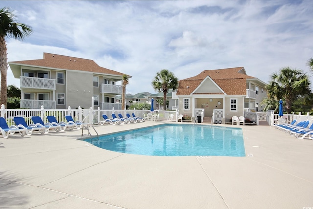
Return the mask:
POLYGON ((15 38, 23 40, 32 32, 30 26, 15 22, 15 15, 10 8, 4 7, 0 9, 0 70, 1 70, 1 104, 6 106, 7 86, 6 75, 9 68, 7 63, 7 48, 5 38, 15 38))

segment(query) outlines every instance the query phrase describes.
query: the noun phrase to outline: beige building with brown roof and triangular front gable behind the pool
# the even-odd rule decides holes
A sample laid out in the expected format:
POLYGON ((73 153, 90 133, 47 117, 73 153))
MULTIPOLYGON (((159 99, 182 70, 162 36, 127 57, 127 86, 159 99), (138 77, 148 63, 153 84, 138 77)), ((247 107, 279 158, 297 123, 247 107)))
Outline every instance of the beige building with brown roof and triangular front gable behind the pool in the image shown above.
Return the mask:
POLYGON ((244 111, 262 111, 265 86, 260 79, 248 76, 244 67, 204 70, 180 80, 173 98, 179 100, 179 114, 197 116, 204 109, 204 117, 212 117, 214 110, 220 110, 216 117, 231 119, 244 116, 244 111))

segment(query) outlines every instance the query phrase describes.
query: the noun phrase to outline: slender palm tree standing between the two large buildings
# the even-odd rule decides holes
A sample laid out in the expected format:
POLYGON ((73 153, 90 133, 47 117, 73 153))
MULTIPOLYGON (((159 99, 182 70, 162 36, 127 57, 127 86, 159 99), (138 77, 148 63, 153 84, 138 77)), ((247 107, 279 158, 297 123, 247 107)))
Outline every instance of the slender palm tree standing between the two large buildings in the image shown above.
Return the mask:
POLYGON ((158 92, 163 92, 164 110, 166 110, 166 94, 169 89, 176 90, 178 87, 178 78, 175 77, 173 72, 162 69, 156 73, 152 81, 152 87, 158 92))

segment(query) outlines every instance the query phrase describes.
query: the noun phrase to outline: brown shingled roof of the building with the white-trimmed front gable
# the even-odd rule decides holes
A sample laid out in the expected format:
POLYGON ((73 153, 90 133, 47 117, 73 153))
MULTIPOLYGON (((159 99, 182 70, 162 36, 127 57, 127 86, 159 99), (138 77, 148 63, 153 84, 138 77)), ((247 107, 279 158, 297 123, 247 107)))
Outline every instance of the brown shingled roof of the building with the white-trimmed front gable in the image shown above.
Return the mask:
MULTIPOLYGON (((207 76, 209 76, 227 95, 246 95, 246 79, 254 78, 246 75, 244 67, 204 70, 194 77, 180 80, 176 94, 190 95, 207 76)), ((221 92, 201 94, 221 94, 221 92)))

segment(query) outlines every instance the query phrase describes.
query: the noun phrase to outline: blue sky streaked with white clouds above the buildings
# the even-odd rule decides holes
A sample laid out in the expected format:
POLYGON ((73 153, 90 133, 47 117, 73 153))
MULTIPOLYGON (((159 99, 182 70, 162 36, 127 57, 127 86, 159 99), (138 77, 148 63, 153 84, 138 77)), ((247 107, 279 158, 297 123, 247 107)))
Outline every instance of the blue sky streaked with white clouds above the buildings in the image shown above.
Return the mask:
MULTIPOLYGON (((156 72, 179 79, 243 66, 268 82, 292 67, 309 73, 313 0, 0 1, 33 28, 7 39, 8 61, 43 52, 86 58, 133 76, 127 93, 148 91, 156 72)), ((310 73, 313 75, 313 73, 310 73)), ((313 77, 311 77, 313 81, 313 77)), ((19 87, 8 70, 8 85, 19 87)))

